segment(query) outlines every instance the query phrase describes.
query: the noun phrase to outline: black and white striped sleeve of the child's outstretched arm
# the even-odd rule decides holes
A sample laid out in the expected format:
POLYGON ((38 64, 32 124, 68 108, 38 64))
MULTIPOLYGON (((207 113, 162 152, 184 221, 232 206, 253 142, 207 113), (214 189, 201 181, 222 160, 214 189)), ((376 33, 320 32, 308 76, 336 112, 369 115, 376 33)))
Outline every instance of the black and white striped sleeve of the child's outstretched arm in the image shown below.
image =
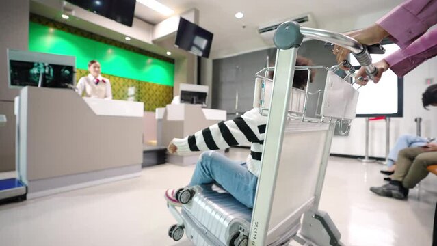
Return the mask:
POLYGON ((259 109, 247 111, 241 117, 220 122, 183 139, 173 139, 178 154, 194 151, 222 150, 243 143, 260 143, 264 139, 267 117, 259 109))

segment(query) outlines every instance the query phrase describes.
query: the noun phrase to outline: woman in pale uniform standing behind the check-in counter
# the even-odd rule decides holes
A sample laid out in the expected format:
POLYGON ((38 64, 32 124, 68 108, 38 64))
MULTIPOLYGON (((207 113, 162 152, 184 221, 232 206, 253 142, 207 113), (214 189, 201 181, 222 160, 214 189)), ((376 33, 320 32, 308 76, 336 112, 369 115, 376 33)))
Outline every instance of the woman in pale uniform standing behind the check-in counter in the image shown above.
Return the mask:
POLYGON ((102 77, 100 63, 95 60, 88 62, 88 71, 88 76, 79 79, 76 85, 77 93, 82 96, 85 92, 86 97, 111 100, 111 82, 102 77))

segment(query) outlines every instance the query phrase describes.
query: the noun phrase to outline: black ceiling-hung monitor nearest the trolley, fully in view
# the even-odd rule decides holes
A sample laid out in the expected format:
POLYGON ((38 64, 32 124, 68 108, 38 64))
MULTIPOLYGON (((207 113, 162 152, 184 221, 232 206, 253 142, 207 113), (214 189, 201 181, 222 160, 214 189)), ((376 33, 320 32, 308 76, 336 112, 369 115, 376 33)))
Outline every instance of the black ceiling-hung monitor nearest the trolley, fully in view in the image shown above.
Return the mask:
POLYGON ((213 33, 181 18, 174 44, 180 49, 208 58, 213 36, 213 33))

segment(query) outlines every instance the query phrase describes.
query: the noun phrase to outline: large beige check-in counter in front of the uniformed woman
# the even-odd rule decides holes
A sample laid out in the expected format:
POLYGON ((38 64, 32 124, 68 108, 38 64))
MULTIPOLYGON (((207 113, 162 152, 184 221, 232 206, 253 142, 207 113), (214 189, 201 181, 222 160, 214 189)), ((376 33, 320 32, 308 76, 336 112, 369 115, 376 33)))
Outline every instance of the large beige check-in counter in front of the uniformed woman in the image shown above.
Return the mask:
POLYGON ((17 171, 27 197, 140 175, 143 102, 25 87, 15 110, 17 171))

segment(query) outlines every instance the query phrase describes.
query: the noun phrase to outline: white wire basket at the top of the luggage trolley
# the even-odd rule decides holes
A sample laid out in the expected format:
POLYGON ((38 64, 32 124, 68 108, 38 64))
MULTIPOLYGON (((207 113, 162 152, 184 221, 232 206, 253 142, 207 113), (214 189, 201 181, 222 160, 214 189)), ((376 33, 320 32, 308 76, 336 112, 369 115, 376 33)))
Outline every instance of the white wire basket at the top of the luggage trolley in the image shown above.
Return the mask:
MULTIPOLYGON (((291 88, 288 118, 302 120, 302 122, 330 123, 338 122, 339 133, 349 133, 350 124, 355 118, 358 89, 352 87, 350 77, 354 75, 354 68, 342 63, 332 68, 327 66, 295 66, 295 71, 307 71, 308 79, 305 89, 291 88), (339 66, 349 67, 344 78, 335 73, 339 66), (323 89, 310 91, 310 77, 312 70, 325 77, 323 89), (315 108, 315 110, 308 110, 315 108), (343 126, 347 125, 346 130, 343 126)), ((269 103, 272 96, 273 79, 269 74, 274 72, 274 67, 266 67, 256 72, 253 107, 259 108, 261 115, 267 116, 269 103)))

